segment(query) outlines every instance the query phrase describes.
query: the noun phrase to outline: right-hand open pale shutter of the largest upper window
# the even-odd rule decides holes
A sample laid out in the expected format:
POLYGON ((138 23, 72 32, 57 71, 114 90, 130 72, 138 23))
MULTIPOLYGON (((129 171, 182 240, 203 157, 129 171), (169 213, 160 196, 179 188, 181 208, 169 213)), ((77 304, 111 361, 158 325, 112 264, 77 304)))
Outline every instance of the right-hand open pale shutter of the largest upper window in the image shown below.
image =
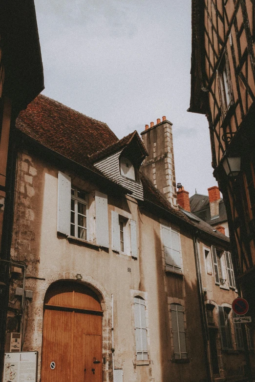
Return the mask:
POLYGON ((107 195, 96 191, 96 243, 102 247, 109 248, 108 228, 108 203, 107 195))

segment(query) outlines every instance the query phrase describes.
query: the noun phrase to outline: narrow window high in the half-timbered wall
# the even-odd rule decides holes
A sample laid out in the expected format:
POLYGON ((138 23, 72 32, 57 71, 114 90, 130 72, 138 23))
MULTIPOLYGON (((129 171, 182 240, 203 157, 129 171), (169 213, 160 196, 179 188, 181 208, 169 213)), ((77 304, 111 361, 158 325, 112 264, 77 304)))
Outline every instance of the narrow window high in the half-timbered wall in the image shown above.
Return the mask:
POLYGON ((226 114, 232 103, 232 90, 226 55, 221 59, 218 71, 218 84, 222 113, 226 114))

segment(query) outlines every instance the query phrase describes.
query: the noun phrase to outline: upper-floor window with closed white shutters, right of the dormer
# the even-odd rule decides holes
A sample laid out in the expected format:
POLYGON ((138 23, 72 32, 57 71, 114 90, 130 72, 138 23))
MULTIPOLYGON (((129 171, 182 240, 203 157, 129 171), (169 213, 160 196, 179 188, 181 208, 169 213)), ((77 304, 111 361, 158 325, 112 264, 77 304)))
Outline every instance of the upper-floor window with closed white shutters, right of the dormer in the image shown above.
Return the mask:
POLYGON ((182 274, 180 233, 166 225, 162 226, 166 270, 182 274))

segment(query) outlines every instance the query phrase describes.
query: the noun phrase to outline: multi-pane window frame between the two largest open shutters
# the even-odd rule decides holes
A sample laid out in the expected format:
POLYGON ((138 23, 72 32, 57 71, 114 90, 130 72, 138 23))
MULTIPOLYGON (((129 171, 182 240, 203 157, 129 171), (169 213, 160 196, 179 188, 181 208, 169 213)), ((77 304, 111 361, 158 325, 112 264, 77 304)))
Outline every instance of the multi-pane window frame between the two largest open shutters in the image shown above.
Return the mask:
POLYGON ((74 223, 72 222, 71 213, 70 213, 70 236, 73 237, 73 238, 76 238, 76 239, 88 241, 88 238, 89 238, 89 232, 88 232, 88 194, 84 190, 71 185, 71 201, 72 200, 74 201, 74 211, 71 209, 71 206, 70 206, 70 212, 71 213, 74 212, 74 223), (72 190, 74 190, 74 194, 72 194, 72 190), (78 192, 85 193, 85 199, 79 198, 78 192), (78 203, 81 203, 81 204, 85 205, 86 215, 81 214, 81 213, 78 212, 78 203), (78 215, 82 215, 82 216, 84 216, 86 218, 86 226, 81 226, 81 225, 78 224, 78 215), (72 226, 74 226, 74 236, 72 235, 72 232, 71 232, 72 231, 71 230, 72 226), (86 239, 84 239, 82 237, 79 237, 79 235, 78 235, 78 228, 79 227, 82 228, 82 229, 85 229, 86 239))

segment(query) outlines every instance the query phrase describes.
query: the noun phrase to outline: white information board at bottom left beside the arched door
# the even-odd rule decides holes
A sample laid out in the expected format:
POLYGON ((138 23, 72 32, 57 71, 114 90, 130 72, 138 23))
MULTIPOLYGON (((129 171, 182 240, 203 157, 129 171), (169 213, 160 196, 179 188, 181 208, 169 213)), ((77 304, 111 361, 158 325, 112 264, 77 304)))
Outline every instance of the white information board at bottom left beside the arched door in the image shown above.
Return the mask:
POLYGON ((3 382, 37 382, 38 352, 4 353, 3 382))

